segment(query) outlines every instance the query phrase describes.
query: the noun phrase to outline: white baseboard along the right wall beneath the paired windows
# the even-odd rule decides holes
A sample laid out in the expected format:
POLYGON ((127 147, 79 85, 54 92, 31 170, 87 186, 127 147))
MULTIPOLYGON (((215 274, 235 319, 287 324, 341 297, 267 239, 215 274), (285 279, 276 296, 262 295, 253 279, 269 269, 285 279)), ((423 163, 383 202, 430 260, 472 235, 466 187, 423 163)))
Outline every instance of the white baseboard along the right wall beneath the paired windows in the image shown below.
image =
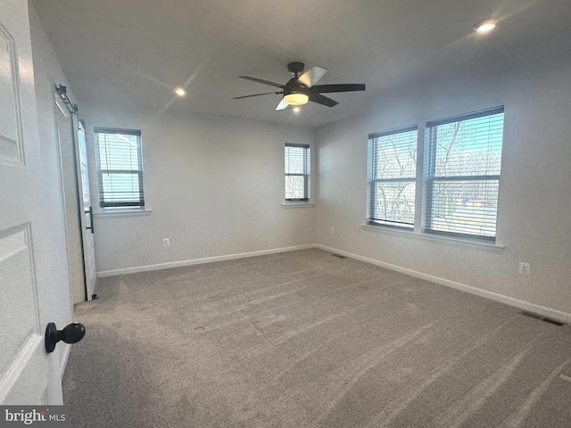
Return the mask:
POLYGON ((457 283, 456 281, 451 281, 449 279, 444 279, 439 276, 428 275, 423 272, 418 272, 417 270, 413 270, 410 268, 402 268, 401 266, 393 265, 391 263, 385 263, 384 261, 379 261, 376 259, 370 259, 368 257, 360 256, 358 254, 353 254, 352 252, 337 250, 335 248, 327 247, 326 245, 316 244, 315 247, 320 248, 321 250, 335 252, 335 254, 341 254, 346 257, 350 257, 352 259, 357 259, 360 261, 365 261, 372 265, 380 266, 381 268, 387 268, 394 270, 396 272, 401 272, 402 274, 415 276, 417 278, 426 279, 427 281, 431 281, 436 284, 442 284, 447 287, 455 288, 462 292, 469 292, 470 294, 475 294, 476 296, 484 297, 486 299, 491 299, 495 301, 499 301, 501 303, 505 303, 509 306, 514 306, 519 309, 524 309, 529 312, 533 312, 535 314, 541 315, 542 317, 549 317, 560 321, 562 323, 571 323, 571 314, 567 312, 563 312, 558 309, 551 309, 546 308, 541 305, 536 305, 534 303, 530 303, 525 300, 518 300, 513 297, 504 296, 503 294, 499 294, 497 292, 489 292, 487 290, 482 290, 481 288, 476 288, 471 285, 457 283))

